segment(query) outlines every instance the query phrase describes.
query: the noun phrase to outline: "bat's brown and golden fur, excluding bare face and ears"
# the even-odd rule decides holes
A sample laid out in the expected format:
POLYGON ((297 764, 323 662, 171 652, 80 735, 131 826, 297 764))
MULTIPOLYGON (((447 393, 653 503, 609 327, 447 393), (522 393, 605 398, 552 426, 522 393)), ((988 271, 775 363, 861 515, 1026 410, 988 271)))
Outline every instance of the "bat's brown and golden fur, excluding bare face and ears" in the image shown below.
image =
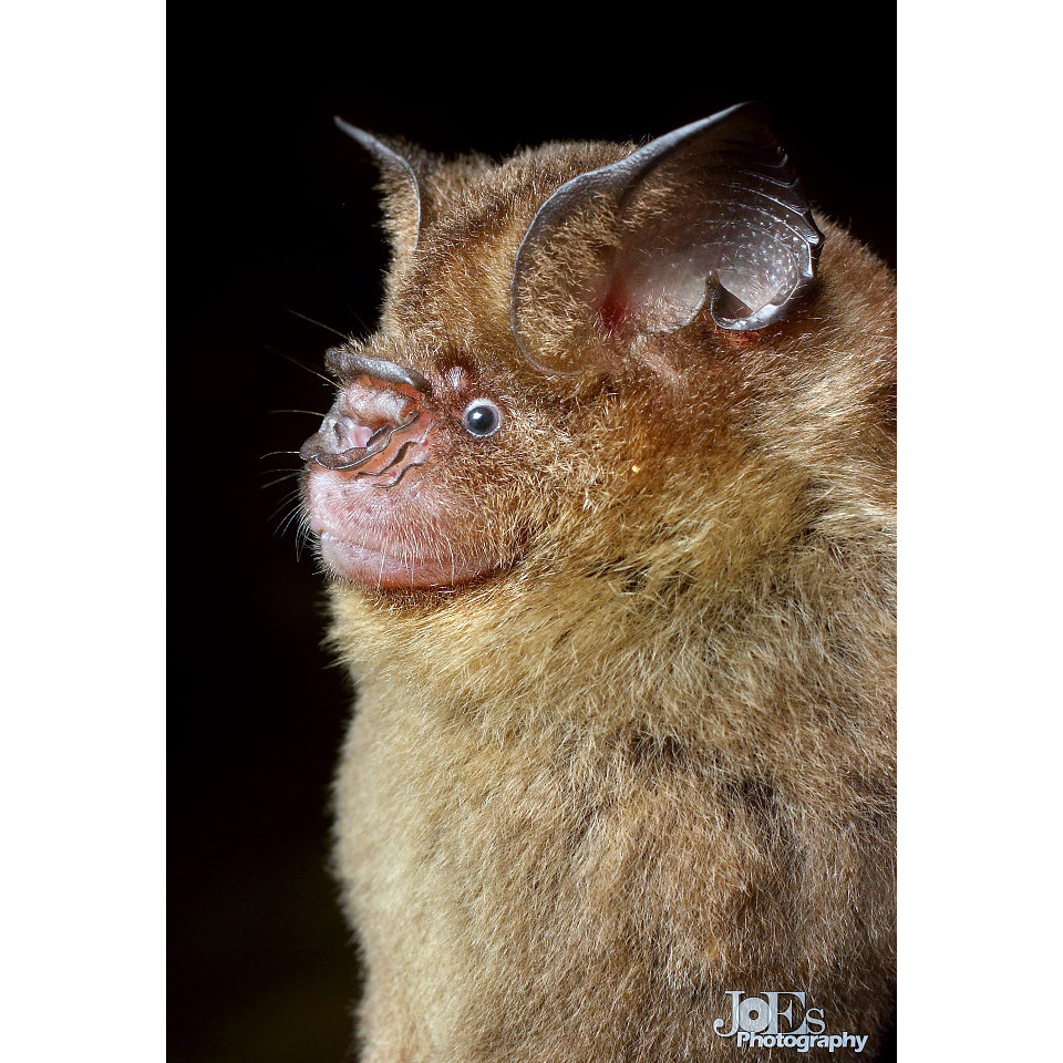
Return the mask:
MULTIPOLYGON (((729 990, 804 990, 868 1059, 891 1009, 892 278, 821 221, 781 324, 703 311, 548 376, 509 332, 517 245, 628 149, 435 165, 413 254, 391 189, 368 348, 510 415, 433 473, 482 508, 489 578, 331 587, 367 1063, 776 1057, 713 1033, 729 990)), ((570 292, 543 299, 563 342, 570 292)))

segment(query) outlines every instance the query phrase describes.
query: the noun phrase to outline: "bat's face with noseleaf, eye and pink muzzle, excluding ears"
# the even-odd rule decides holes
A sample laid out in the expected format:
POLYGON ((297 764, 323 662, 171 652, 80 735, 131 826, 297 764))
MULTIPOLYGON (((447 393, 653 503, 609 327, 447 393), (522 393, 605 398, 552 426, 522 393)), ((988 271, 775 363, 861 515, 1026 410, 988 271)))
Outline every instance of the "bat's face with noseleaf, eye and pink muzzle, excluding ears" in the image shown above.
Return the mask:
POLYGON ((339 398, 301 452, 322 560, 380 590, 487 576, 516 560, 526 532, 514 461, 528 445, 526 411, 467 358, 412 348, 394 360, 331 352, 339 398))

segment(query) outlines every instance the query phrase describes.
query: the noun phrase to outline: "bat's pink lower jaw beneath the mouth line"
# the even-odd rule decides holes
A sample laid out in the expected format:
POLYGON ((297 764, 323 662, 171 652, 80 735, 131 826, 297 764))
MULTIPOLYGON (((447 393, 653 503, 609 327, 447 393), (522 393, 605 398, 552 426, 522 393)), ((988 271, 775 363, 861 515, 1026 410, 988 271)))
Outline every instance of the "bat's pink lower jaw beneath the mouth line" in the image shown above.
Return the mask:
POLYGON ((487 558, 410 557, 319 533, 321 560, 333 576, 371 590, 458 587, 494 569, 487 558))

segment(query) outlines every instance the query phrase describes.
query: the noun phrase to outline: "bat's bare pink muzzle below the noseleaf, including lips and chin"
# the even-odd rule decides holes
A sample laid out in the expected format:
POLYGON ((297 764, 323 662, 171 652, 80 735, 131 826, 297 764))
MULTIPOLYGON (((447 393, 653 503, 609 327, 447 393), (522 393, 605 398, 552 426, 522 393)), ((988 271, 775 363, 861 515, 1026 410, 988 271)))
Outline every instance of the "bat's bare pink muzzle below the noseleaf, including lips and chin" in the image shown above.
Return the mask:
POLYGON ((456 507, 423 466, 386 489, 373 479, 309 465, 310 529, 341 579, 374 590, 454 587, 498 566, 486 522, 456 507))

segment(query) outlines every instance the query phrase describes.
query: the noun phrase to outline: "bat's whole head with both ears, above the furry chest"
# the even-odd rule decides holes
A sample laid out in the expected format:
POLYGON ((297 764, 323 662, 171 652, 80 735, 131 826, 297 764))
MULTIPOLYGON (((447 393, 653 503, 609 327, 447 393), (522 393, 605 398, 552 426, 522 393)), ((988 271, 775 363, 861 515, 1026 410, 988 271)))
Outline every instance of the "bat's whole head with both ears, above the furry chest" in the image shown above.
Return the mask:
POLYGON ((877 320, 888 278, 838 233, 817 279, 823 233, 756 105, 499 165, 339 124, 380 165, 393 248, 380 329, 329 352, 301 451, 339 580, 424 600, 740 565, 815 507, 815 454, 869 432, 877 375, 849 373, 829 422, 816 389, 844 386, 824 337, 877 320))

